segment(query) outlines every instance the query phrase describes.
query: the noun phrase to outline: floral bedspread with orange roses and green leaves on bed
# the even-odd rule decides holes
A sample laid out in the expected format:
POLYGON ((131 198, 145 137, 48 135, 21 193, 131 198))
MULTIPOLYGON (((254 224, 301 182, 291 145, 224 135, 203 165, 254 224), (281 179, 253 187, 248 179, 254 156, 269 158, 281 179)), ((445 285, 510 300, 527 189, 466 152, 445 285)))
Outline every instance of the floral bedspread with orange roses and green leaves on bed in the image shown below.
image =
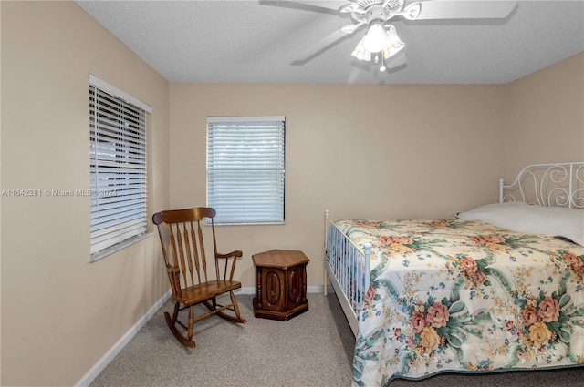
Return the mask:
POLYGON ((478 220, 337 222, 373 244, 354 385, 584 363, 584 248, 478 220))

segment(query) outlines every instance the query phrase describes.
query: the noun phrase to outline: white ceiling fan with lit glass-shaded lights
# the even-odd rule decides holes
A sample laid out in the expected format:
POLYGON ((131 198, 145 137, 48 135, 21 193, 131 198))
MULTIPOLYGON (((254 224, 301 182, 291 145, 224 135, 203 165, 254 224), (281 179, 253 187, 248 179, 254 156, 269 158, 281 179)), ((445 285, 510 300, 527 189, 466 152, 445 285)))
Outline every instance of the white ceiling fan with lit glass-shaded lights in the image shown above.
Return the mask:
MULTIPOLYGON (((413 21, 505 18, 516 7, 515 1, 502 0, 426 0, 408 4, 405 0, 295 0, 293 3, 336 10, 340 14, 350 14, 353 20, 353 24, 341 26, 332 34, 308 46, 297 55, 293 64, 305 63, 341 38, 368 26, 367 33, 351 55, 360 60, 373 59, 376 64, 381 61, 381 71, 387 69, 385 64, 388 58, 401 52, 405 46, 395 27, 388 24, 393 18, 402 17, 413 21)), ((405 64, 405 56, 401 56, 401 62, 396 66, 402 64, 405 64)))

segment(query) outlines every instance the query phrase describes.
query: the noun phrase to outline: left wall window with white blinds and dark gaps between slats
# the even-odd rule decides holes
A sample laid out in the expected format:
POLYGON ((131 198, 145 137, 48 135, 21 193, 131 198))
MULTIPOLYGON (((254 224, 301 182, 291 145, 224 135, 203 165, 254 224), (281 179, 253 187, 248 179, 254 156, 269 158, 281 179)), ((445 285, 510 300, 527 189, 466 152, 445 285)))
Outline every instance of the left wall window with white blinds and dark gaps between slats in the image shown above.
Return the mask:
POLYGON ((91 260, 147 232, 147 112, 148 105, 89 76, 91 260))

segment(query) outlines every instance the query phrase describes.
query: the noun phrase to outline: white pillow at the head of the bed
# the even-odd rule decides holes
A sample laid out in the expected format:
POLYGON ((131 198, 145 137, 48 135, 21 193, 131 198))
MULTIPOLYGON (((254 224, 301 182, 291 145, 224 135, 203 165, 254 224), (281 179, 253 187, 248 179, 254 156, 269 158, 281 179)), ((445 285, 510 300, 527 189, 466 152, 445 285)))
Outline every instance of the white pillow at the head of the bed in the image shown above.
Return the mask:
POLYGON ((456 216, 460 219, 483 220, 514 231, 568 238, 584 246, 584 209, 542 207, 511 201, 487 204, 459 212, 456 216))

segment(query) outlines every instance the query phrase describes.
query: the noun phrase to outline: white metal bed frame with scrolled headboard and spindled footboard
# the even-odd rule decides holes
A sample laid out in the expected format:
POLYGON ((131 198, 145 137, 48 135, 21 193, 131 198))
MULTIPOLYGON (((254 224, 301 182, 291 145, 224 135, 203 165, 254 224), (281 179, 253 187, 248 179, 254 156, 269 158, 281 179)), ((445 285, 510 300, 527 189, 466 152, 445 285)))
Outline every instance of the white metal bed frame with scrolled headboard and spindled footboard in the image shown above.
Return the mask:
MULTIPOLYGON (((509 185, 499 179, 499 202, 516 200, 546 207, 584 209, 584 162, 531 164, 521 169, 509 185)), ((325 296, 328 279, 357 336, 357 316, 370 284, 372 246, 366 243, 363 250, 357 247, 328 218, 327 209, 324 247, 325 296), (334 239, 335 249, 331 251, 327 250, 329 238, 334 239)))

